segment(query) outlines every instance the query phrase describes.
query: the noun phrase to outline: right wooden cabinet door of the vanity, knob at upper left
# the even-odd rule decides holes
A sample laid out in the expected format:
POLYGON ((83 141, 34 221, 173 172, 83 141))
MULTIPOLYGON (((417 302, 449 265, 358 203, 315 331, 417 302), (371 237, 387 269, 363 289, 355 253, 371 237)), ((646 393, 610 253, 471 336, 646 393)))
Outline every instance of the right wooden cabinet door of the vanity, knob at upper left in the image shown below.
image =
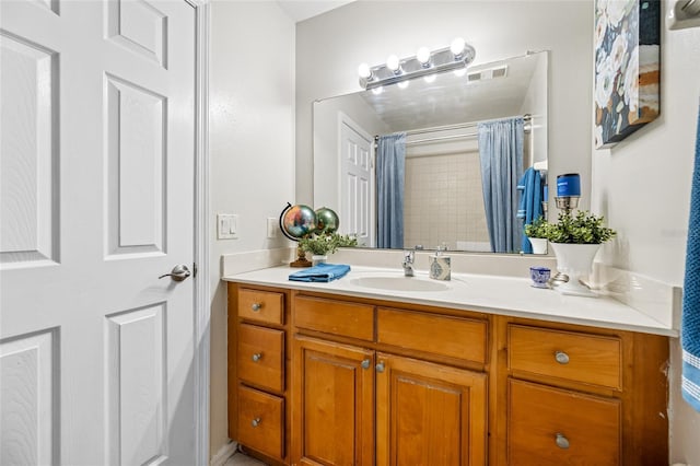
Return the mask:
POLYGON ((378 466, 485 465, 487 375, 378 353, 378 466))

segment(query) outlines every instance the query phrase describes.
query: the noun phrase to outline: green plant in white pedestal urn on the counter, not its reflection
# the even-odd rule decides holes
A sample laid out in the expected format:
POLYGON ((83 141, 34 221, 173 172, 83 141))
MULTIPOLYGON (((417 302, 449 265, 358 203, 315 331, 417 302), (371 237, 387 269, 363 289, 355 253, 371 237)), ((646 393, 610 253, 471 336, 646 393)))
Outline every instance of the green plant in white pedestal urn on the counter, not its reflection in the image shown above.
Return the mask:
POLYGON ((605 226, 605 218, 587 210, 575 215, 559 213, 557 223, 548 228, 548 238, 557 256, 557 270, 569 276, 569 281, 558 287, 564 294, 595 296, 587 287, 579 281, 587 276, 600 244, 610 241, 617 232, 605 226))

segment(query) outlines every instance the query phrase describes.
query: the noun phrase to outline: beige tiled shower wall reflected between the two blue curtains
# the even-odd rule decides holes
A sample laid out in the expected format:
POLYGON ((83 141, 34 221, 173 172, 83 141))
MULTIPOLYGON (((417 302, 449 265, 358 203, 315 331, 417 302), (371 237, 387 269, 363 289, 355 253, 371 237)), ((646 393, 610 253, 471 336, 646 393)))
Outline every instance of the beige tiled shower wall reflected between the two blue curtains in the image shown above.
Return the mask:
POLYGON ((423 156, 407 152, 404 246, 435 248, 442 243, 450 249, 489 251, 478 150, 423 156))

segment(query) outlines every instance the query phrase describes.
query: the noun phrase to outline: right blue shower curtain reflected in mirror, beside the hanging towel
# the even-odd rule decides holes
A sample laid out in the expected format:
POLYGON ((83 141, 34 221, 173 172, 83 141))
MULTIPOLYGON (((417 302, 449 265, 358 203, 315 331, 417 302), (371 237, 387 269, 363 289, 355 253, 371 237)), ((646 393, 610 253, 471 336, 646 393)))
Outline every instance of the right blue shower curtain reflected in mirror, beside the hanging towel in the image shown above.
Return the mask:
POLYGON ((523 118, 479 124, 483 205, 493 253, 521 249, 517 182, 523 176, 523 118))

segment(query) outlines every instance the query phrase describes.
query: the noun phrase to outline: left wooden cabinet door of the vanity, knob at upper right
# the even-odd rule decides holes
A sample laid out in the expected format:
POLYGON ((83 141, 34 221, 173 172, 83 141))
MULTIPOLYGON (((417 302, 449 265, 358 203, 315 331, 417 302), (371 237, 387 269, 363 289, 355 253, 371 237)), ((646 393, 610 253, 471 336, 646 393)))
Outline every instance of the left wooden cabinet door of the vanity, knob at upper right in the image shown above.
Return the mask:
POLYGON ((373 351, 296 337, 292 464, 372 465, 373 351))

